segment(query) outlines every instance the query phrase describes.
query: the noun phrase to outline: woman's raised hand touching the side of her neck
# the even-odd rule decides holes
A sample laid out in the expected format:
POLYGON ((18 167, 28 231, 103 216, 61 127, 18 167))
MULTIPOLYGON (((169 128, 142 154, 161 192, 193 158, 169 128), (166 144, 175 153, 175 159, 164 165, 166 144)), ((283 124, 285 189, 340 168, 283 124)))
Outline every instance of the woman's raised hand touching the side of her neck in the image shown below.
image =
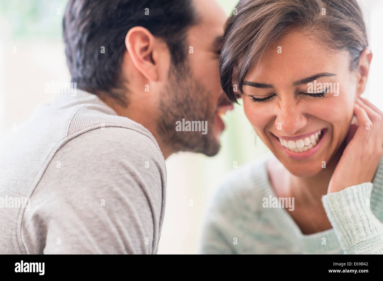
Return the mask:
POLYGON ((371 182, 383 155, 383 112, 360 98, 355 103, 354 114, 359 126, 350 127, 346 141, 351 140, 331 177, 327 194, 371 182))

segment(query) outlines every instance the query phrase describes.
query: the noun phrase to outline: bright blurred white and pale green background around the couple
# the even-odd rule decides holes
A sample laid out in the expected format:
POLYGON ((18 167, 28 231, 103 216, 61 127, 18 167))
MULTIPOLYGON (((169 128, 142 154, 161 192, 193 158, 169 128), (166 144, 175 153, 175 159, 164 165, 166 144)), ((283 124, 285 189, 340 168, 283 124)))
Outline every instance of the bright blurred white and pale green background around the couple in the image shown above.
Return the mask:
MULTIPOLYGON (((70 81, 61 39, 66 0, 0 0, 0 137, 49 101, 45 83, 70 81)), ((238 0, 218 0, 229 15, 238 0)), ((361 0, 373 61, 364 94, 383 109, 380 65, 383 1, 361 0)), ((214 12, 214 11, 212 11, 214 12)), ((216 187, 228 171, 268 151, 241 106, 226 118, 222 149, 214 158, 177 153, 167 162, 167 199, 159 254, 196 254, 201 223, 216 187)))

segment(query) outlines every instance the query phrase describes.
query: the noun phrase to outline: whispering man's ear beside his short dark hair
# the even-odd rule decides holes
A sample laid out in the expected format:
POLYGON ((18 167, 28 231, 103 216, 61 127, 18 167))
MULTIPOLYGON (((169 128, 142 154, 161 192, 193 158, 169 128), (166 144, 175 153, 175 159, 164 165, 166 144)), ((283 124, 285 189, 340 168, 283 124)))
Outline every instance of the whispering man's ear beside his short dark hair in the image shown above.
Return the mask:
POLYGON ((157 81, 159 73, 153 60, 155 38, 151 32, 142 26, 135 26, 126 34, 125 45, 137 70, 148 80, 157 81))

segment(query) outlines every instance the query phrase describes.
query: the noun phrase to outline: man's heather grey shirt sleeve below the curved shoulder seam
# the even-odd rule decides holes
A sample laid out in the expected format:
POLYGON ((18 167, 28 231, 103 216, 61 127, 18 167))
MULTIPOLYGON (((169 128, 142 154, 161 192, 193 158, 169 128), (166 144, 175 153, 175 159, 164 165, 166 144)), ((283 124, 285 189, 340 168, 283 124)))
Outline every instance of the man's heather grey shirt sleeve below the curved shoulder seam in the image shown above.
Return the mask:
MULTIPOLYGON (((119 127, 82 133, 56 151, 31 195, 33 204, 23 215, 26 249, 41 253, 50 240, 35 237, 43 224, 55 237, 59 237, 56 232, 71 240, 90 236, 91 249, 86 253, 152 253, 163 219, 165 188, 162 154, 147 136, 119 127), (60 222, 59 226, 53 222, 60 222), (100 227, 107 235, 98 234, 100 227), (119 227, 123 227, 120 232, 119 227), (142 233, 153 249, 142 246, 146 239, 142 233), (128 243, 128 248, 116 244, 130 240, 134 244, 128 243)), ((56 250, 51 244, 49 251, 56 250)))

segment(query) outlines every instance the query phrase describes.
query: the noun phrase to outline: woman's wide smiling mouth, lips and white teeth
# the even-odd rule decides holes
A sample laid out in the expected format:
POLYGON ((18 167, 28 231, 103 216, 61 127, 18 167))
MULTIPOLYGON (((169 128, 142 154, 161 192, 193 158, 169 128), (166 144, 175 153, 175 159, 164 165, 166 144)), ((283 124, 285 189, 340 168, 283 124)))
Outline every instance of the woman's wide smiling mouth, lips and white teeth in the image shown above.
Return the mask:
POLYGON ((313 156, 323 143, 327 129, 318 130, 294 138, 278 138, 275 140, 282 150, 293 159, 306 159, 313 156), (286 140, 290 139, 290 140, 286 140), (281 143, 282 142, 282 143, 281 143))

